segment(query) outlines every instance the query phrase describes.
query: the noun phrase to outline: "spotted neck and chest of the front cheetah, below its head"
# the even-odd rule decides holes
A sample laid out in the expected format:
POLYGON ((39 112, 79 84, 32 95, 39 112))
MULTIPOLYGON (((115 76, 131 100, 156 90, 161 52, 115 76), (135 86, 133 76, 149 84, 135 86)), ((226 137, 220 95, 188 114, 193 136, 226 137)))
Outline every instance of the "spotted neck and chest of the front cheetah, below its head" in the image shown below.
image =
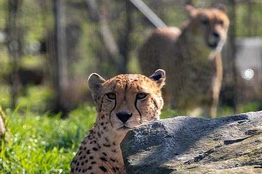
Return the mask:
POLYGON ((97 116, 95 126, 82 142, 71 163, 71 173, 125 173, 120 142, 125 134, 117 134, 110 123, 97 116))

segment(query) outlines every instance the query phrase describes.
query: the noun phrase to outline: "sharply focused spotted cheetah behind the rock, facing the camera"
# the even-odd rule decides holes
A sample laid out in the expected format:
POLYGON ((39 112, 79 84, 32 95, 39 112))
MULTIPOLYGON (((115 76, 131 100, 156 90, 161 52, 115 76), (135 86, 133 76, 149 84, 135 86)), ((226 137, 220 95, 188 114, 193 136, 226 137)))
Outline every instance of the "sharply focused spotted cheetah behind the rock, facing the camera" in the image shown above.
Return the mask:
POLYGON ((164 81, 163 70, 150 77, 126 74, 108 80, 91 74, 88 84, 98 116, 71 162, 71 173, 125 173, 120 142, 130 128, 159 119, 164 81))

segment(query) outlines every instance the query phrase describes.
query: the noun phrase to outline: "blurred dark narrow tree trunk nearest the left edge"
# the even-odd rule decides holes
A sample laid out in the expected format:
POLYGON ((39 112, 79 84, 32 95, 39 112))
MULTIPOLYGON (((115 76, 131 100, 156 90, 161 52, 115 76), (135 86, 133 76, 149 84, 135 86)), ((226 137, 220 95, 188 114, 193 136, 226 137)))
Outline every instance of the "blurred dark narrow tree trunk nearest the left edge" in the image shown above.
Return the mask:
POLYGON ((10 62, 12 67, 12 88, 11 88, 11 108, 15 108, 18 91, 20 89, 20 80, 18 69, 23 51, 23 30, 21 24, 21 6, 22 0, 8 1, 7 12, 7 48, 9 51, 10 62))

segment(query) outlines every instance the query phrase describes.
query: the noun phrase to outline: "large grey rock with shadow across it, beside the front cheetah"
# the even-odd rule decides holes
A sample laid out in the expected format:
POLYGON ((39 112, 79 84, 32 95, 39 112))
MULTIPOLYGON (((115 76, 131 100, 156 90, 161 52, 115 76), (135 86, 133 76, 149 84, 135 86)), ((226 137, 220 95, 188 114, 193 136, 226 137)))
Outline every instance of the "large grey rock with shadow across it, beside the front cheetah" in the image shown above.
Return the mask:
POLYGON ((127 173, 262 173, 262 112, 175 117, 140 125, 121 143, 127 173))

